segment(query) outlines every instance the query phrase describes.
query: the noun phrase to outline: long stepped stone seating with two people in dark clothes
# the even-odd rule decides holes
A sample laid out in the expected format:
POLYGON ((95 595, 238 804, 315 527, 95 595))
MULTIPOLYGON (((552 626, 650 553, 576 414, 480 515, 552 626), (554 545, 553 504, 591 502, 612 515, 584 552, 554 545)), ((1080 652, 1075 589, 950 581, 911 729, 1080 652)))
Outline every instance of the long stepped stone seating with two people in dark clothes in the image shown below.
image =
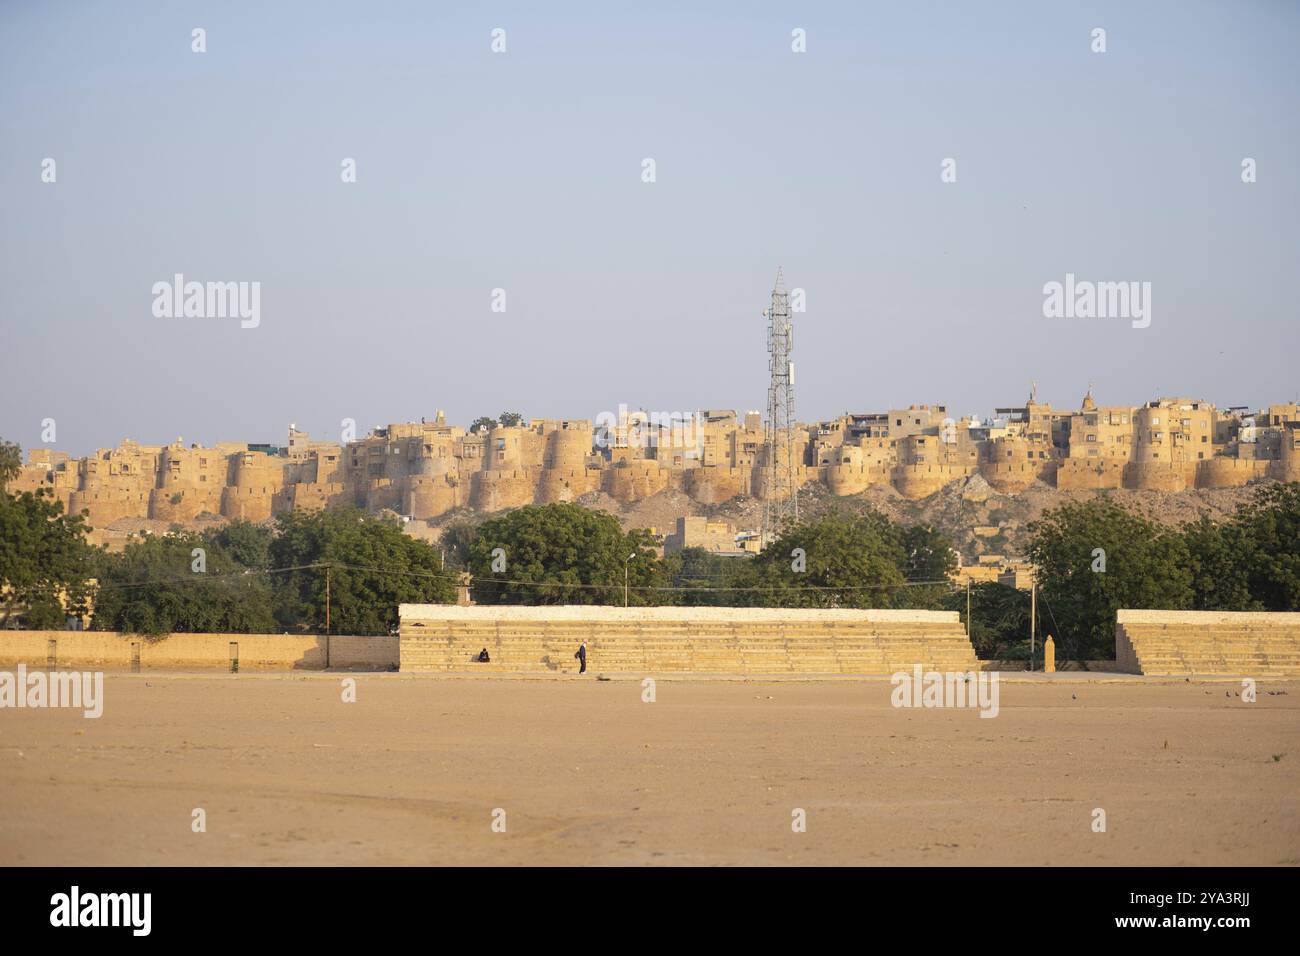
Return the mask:
POLYGON ((588 671, 603 674, 894 674, 910 672, 918 663, 939 671, 979 669, 956 615, 880 622, 862 613, 862 619, 733 623, 719 609, 702 619, 663 620, 645 613, 636 620, 601 620, 602 609, 584 609, 594 618, 589 620, 546 619, 545 609, 528 610, 538 619, 403 617, 402 670, 576 674, 573 654, 584 640, 588 671), (489 663, 477 662, 484 648, 489 663))

